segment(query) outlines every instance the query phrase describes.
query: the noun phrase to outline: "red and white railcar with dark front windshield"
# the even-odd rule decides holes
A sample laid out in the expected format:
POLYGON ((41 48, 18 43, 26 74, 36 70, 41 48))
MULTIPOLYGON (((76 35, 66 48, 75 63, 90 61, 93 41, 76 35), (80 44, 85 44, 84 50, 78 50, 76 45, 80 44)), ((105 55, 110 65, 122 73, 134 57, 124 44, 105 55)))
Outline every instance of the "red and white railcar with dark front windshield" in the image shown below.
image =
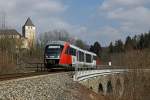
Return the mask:
POLYGON ((64 41, 51 41, 45 47, 44 64, 47 68, 61 66, 90 66, 96 67, 96 54, 80 49, 64 41))

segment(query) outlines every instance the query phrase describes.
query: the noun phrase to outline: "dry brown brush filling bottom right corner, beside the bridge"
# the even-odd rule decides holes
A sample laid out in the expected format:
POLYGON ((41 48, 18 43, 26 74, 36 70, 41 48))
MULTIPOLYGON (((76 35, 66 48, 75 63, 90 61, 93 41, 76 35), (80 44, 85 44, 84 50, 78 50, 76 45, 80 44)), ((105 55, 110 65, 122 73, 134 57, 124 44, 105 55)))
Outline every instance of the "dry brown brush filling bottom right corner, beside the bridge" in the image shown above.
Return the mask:
POLYGON ((125 92, 107 96, 106 100, 150 100, 150 72, 135 71, 125 75, 125 92))

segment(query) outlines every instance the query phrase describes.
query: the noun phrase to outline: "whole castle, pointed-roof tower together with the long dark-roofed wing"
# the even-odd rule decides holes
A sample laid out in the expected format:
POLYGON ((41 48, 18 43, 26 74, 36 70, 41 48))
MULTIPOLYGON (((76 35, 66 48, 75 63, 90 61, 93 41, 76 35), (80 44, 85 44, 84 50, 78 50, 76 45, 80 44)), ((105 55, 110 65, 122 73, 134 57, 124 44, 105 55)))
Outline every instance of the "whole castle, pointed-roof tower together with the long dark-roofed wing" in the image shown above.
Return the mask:
POLYGON ((28 18, 25 24, 22 27, 22 35, 17 32, 16 29, 0 29, 0 39, 14 38, 20 39, 23 42, 22 48, 30 49, 35 46, 36 42, 36 27, 32 23, 31 19, 28 18))

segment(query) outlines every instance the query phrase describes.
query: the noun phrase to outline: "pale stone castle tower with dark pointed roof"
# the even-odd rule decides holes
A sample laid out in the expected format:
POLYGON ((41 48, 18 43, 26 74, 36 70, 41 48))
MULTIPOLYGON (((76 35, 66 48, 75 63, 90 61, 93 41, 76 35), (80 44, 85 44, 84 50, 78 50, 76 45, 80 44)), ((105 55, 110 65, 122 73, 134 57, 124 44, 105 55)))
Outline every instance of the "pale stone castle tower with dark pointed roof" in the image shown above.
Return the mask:
POLYGON ((23 38, 26 39, 26 44, 29 48, 35 45, 35 25, 32 23, 31 19, 28 18, 22 27, 23 38))

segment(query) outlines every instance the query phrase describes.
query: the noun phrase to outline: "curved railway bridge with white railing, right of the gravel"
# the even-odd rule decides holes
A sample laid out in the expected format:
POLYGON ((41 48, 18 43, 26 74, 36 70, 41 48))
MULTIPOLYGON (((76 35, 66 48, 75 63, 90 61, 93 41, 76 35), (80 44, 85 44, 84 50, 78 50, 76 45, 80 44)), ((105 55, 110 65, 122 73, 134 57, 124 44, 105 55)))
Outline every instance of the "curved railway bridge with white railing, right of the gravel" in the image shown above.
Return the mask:
POLYGON ((128 71, 127 69, 76 70, 73 78, 74 81, 78 81, 98 94, 117 93, 122 96, 125 91, 124 76, 128 71))

